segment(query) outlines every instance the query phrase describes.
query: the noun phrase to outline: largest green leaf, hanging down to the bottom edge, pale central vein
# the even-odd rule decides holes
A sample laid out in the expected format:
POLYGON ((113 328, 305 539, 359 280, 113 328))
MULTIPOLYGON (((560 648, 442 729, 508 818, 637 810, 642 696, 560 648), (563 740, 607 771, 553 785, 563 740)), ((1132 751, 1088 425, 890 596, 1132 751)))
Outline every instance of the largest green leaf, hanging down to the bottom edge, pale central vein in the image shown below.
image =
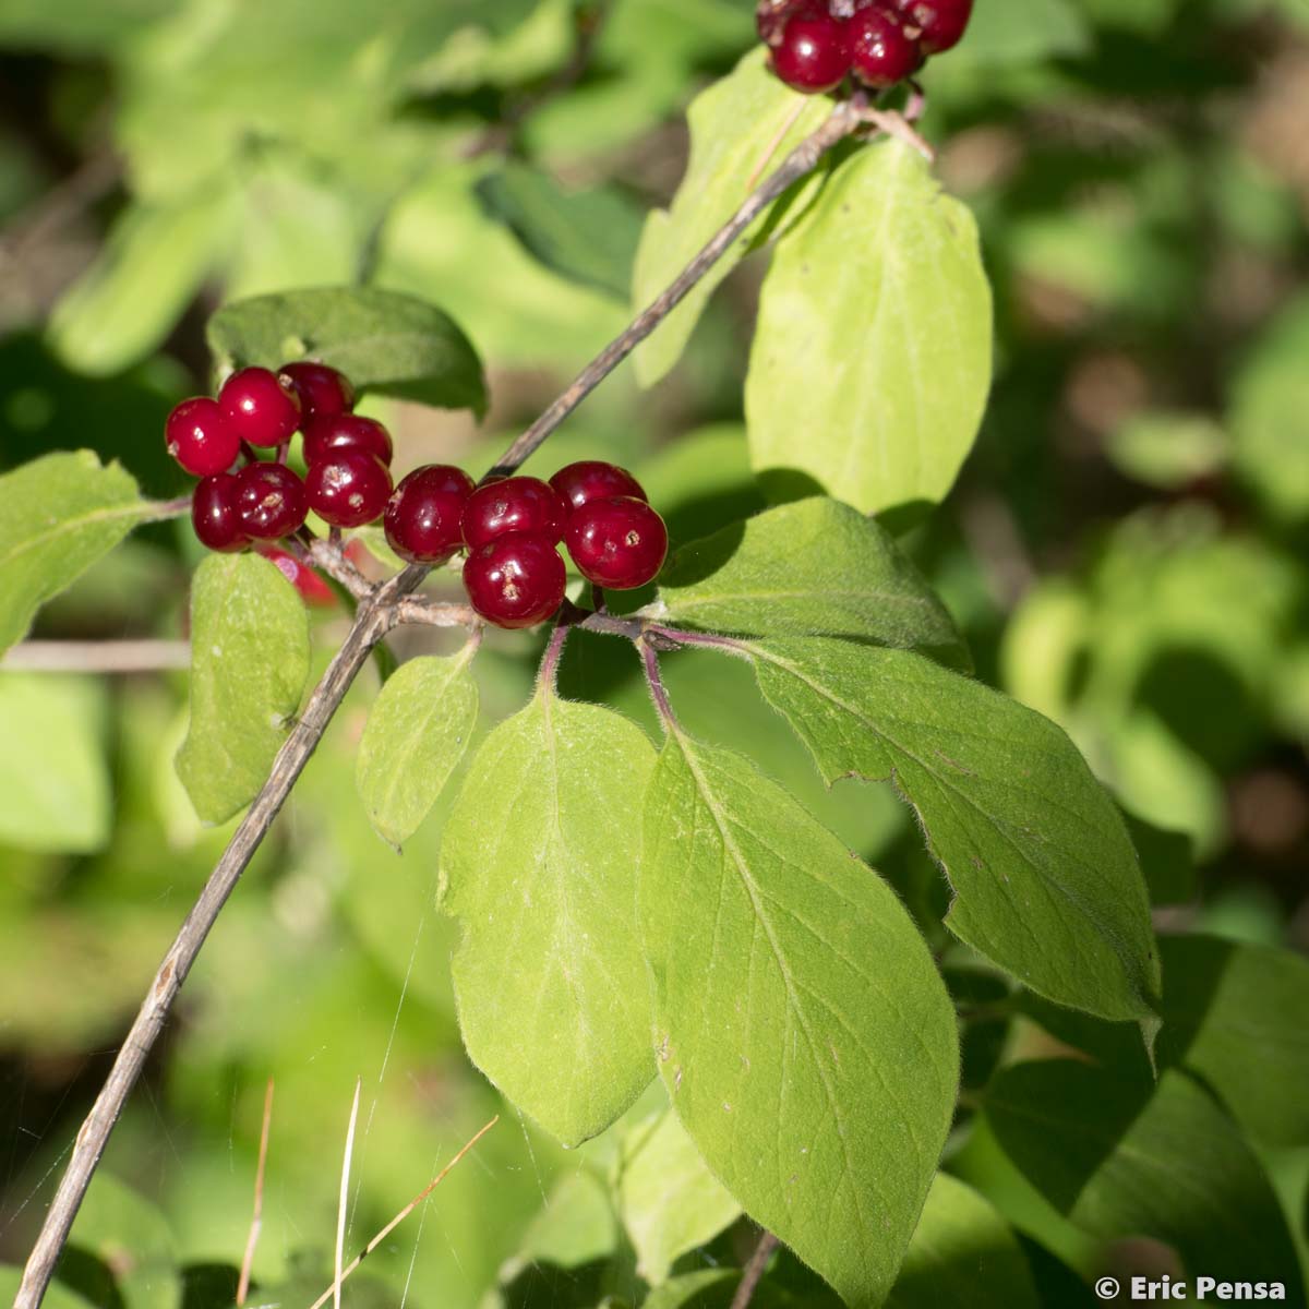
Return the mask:
POLYGON ((746 1212, 882 1301, 954 1110, 954 1013, 895 895, 740 755, 674 730, 640 912, 660 1073, 746 1212))

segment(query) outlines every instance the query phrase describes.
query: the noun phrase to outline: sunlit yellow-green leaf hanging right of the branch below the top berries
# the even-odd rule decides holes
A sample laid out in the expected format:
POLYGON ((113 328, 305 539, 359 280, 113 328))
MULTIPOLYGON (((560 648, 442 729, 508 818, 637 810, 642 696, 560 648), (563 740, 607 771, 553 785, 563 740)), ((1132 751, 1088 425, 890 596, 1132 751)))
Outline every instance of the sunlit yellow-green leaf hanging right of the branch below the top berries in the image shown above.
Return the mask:
POLYGON ((778 243, 745 407, 757 473, 865 513, 935 504, 991 386, 977 225, 901 141, 857 152, 778 243))

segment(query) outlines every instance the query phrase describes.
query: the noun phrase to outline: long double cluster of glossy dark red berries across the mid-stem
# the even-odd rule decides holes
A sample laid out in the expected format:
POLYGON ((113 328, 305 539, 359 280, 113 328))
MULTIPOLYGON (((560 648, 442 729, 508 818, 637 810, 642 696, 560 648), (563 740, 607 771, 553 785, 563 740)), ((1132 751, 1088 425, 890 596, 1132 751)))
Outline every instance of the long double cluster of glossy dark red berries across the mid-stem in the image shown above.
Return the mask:
POLYGON ((384 518, 391 548, 411 563, 444 563, 467 547, 469 600, 500 627, 531 627, 563 603, 560 542, 597 586, 631 590, 662 568, 668 529, 623 469, 571 463, 550 482, 513 476, 478 488, 462 469, 432 463, 393 491, 391 439, 353 404, 347 378, 312 363, 278 373, 243 368, 217 399, 178 404, 165 439, 200 478, 191 500, 200 541, 223 552, 255 546, 288 571, 295 560, 270 543, 300 531, 310 509, 334 528, 384 518), (297 431, 304 478, 287 465, 297 431), (275 458, 262 459, 260 449, 276 450, 275 458))

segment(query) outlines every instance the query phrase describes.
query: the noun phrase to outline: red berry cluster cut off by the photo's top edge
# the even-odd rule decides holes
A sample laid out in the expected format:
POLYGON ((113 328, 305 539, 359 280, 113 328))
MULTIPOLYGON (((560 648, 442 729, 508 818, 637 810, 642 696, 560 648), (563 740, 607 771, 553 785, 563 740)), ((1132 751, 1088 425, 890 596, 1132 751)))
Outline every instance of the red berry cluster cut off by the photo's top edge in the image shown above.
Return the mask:
POLYGON ((847 76, 885 90, 957 46, 973 0, 761 0, 759 35, 772 69, 808 94, 847 76))

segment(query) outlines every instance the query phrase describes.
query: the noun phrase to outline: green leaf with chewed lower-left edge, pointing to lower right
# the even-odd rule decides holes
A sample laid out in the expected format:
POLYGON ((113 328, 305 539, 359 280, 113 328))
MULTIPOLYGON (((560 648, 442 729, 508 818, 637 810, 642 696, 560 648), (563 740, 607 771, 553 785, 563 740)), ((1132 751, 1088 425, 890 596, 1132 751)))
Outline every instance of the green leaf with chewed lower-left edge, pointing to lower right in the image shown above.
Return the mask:
POLYGON ((950 881, 956 936, 1059 1004, 1151 1018, 1158 959, 1136 852, 1060 728, 905 651, 750 652, 829 783, 894 779, 950 881))

